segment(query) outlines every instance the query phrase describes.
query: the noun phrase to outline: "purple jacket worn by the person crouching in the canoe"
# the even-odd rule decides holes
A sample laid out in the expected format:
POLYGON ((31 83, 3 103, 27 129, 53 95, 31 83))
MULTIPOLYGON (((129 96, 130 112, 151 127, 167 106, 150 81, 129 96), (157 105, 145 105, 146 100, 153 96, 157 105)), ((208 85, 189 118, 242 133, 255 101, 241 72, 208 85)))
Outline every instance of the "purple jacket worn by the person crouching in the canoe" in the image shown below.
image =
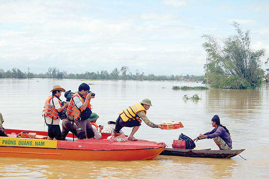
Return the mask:
POLYGON ((225 129, 221 126, 218 126, 217 129, 214 128, 212 131, 204 133, 203 135, 207 135, 207 138, 215 138, 220 136, 226 144, 232 148, 232 139, 231 136, 225 131, 225 129))

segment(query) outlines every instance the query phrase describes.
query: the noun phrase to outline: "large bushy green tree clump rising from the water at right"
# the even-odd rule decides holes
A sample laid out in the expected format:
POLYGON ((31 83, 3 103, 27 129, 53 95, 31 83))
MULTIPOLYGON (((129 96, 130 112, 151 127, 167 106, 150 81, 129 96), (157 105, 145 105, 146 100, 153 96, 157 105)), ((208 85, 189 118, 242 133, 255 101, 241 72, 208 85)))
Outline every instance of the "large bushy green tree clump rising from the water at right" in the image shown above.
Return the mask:
POLYGON ((237 34, 224 38, 223 46, 213 35, 202 36, 207 41, 202 46, 208 53, 208 82, 212 88, 255 89, 263 78, 260 58, 265 49, 252 50, 249 30, 243 32, 237 22, 233 26, 237 34))

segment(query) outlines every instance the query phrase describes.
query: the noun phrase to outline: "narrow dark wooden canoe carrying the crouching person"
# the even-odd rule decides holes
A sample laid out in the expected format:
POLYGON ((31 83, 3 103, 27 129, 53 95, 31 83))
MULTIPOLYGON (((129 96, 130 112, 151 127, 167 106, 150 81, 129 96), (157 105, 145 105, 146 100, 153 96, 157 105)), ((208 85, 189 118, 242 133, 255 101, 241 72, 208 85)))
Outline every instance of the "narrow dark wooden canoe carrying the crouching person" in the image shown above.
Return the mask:
POLYGON ((182 156, 182 157, 204 157, 204 158, 231 158, 237 156, 245 149, 240 150, 190 150, 165 148, 160 155, 164 156, 182 156))

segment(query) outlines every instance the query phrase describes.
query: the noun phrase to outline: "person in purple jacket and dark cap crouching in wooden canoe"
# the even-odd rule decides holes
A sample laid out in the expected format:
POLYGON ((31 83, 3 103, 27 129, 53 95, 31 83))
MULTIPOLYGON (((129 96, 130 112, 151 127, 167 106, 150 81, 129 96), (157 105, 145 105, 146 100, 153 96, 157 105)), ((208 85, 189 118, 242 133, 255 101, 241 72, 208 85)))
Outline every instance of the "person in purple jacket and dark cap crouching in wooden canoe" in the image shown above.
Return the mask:
POLYGON ((204 138, 213 138, 220 150, 231 150, 232 139, 228 129, 221 125, 220 117, 218 115, 214 115, 211 119, 211 124, 212 127, 214 127, 212 131, 200 134, 198 137, 193 139, 193 141, 198 141, 204 138))

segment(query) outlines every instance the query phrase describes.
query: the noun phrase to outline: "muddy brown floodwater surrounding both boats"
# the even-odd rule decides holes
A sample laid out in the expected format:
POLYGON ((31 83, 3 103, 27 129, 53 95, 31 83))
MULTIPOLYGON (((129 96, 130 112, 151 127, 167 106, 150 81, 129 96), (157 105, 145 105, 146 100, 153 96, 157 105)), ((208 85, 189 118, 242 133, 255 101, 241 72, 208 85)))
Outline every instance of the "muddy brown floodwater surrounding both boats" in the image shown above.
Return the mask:
MULTIPOLYGON (((218 114, 233 140, 234 149, 246 149, 231 159, 158 156, 155 160, 71 161, 29 158, 0 160, 1 178, 267 178, 269 176, 269 90, 172 90, 172 86, 203 86, 201 83, 175 81, 81 81, 47 79, 0 79, 0 112, 5 128, 46 130, 41 116, 45 99, 54 85, 77 91, 86 82, 96 93, 92 109, 100 115, 97 123, 107 125, 118 112, 143 98, 152 100, 147 116, 154 123, 180 121, 179 130, 153 129, 144 123, 136 138, 165 142, 169 147, 180 133, 195 138, 212 130, 213 115, 218 114), (162 88, 166 87, 166 88, 162 88), (202 95, 201 100, 183 100, 187 94, 202 95)), ((61 96, 65 100, 64 95, 61 96)), ((131 128, 124 128, 125 134, 131 128)), ((196 149, 218 149, 213 140, 196 143, 196 149)))

